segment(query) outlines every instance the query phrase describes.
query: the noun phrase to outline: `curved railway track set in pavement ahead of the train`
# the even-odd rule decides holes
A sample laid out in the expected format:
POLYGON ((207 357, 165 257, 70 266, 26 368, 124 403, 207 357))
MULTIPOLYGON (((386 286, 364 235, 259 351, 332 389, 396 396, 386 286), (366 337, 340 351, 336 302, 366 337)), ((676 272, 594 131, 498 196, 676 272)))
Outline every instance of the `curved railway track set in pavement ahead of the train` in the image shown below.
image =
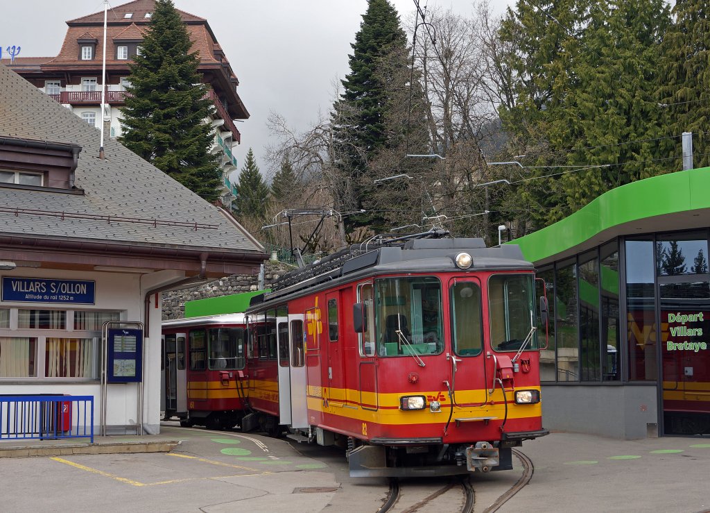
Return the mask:
MULTIPOLYGON (((535 470, 532 465, 532 460, 519 450, 513 449, 513 454, 520 460, 520 464, 523 466, 523 474, 520 475, 520 479, 498 497, 493 504, 486 507, 483 513, 497 512, 503 504, 508 502, 508 500, 516 493, 520 492, 520 490, 523 490, 525 485, 530 482, 532 473, 535 470)), ((423 488, 421 482, 417 482, 417 486, 414 486, 406 481, 392 479, 385 503, 378 509, 378 513, 426 513, 442 511, 474 513, 475 505, 476 495, 469 477, 442 478, 442 482, 431 483, 430 486, 423 488)))

